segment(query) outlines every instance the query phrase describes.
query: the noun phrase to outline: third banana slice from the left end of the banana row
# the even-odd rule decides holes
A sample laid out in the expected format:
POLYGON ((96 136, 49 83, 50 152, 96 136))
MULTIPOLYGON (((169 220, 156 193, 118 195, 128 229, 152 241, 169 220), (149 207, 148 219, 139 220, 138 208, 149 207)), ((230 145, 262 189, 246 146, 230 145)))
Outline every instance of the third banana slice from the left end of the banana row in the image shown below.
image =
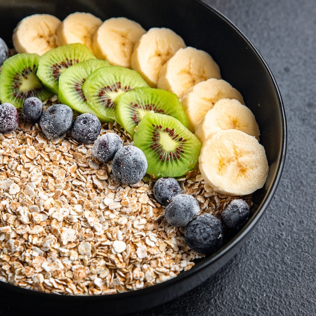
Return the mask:
POLYGON ((131 55, 145 29, 127 18, 111 18, 102 23, 93 36, 94 54, 114 66, 131 68, 131 55))

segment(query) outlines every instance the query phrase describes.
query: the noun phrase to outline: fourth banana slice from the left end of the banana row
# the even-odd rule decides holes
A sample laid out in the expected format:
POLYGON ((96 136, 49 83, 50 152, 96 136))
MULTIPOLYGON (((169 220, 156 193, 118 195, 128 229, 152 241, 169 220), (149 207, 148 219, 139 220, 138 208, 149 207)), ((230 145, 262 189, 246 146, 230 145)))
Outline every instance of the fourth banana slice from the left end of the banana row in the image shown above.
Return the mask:
POLYGON ((141 74, 149 86, 156 88, 161 67, 178 49, 184 47, 182 37, 171 29, 153 27, 135 44, 131 67, 141 74))

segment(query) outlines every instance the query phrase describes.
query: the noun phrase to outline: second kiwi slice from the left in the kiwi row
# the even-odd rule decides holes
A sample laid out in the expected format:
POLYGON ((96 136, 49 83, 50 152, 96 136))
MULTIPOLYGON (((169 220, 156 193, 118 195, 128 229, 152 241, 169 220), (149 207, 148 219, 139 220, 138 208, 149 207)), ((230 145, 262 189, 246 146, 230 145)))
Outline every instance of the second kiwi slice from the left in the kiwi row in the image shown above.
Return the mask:
POLYGON ((40 57, 37 76, 49 90, 58 94, 58 79, 61 73, 88 59, 96 59, 88 46, 81 43, 62 45, 46 51, 40 57))

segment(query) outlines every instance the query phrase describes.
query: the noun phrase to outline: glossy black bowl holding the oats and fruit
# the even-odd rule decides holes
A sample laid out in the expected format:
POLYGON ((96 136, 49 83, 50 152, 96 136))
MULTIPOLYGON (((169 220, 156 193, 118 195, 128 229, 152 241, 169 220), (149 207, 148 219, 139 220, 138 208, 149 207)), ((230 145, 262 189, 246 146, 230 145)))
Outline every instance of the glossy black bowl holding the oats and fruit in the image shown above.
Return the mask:
POLYGON ((49 13, 64 19, 76 11, 90 12, 102 20, 125 16, 145 29, 169 27, 188 46, 206 50, 219 64, 223 79, 237 88, 254 113, 269 161, 264 188, 253 196, 247 224, 216 253, 198 260, 174 279, 137 291, 103 296, 63 296, 26 290, 0 282, 6 299, 24 314, 123 314, 162 304, 191 290, 223 267, 255 228, 271 201, 285 160, 286 121, 281 95, 267 64, 246 36, 221 13, 199 0, 16 0, 0 5, 0 37, 12 46, 14 27, 25 16, 49 13), (32 307, 33 306, 33 307, 32 307), (35 307, 36 306, 36 307, 35 307), (35 308, 35 309, 34 309, 35 308))

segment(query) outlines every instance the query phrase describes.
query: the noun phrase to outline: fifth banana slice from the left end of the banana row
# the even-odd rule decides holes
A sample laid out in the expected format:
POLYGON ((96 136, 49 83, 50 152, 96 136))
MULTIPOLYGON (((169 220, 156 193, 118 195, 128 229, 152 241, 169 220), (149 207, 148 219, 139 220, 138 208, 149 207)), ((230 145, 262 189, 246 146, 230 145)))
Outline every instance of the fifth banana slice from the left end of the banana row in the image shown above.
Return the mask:
POLYGON ((157 87, 180 96, 208 78, 221 79, 219 66, 206 51, 189 46, 180 48, 161 68, 157 87))

